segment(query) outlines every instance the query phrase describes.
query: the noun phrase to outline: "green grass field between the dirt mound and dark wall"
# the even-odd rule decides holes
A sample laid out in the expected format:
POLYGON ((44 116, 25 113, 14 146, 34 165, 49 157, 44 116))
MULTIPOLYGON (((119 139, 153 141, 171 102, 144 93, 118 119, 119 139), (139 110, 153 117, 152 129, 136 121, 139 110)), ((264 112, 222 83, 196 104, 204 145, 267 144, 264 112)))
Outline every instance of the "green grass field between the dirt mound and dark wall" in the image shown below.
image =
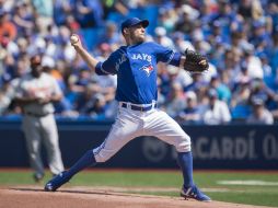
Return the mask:
MULTIPOLYGON (((49 178, 50 174, 47 173, 42 188, 49 178)), ((195 172, 194 178, 195 183, 213 200, 278 207, 277 173, 198 171, 195 172), (223 181, 231 183, 238 181, 238 183, 250 185, 228 185, 228 182, 223 181)), ((31 171, 0 171, 0 185, 26 184, 35 184, 31 171)), ((175 171, 86 171, 79 173, 70 182, 70 186, 146 187, 146 192, 140 190, 139 193, 161 196, 178 196, 177 189, 172 192, 166 189, 179 188, 181 185, 182 175, 175 171), (161 187, 166 192, 148 192, 148 187, 161 187)))

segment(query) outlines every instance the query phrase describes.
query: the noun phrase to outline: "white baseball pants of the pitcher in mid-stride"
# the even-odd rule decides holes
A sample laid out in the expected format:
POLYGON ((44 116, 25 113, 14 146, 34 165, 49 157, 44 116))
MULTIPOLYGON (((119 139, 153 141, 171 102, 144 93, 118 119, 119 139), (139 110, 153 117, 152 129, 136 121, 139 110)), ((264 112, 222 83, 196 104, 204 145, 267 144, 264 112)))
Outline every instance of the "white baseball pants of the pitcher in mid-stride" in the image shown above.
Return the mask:
POLYGON ((175 146, 177 152, 190 151, 190 137, 165 112, 158 108, 139 112, 130 107, 119 107, 108 136, 93 150, 95 161, 107 161, 128 141, 139 136, 154 136, 175 146))

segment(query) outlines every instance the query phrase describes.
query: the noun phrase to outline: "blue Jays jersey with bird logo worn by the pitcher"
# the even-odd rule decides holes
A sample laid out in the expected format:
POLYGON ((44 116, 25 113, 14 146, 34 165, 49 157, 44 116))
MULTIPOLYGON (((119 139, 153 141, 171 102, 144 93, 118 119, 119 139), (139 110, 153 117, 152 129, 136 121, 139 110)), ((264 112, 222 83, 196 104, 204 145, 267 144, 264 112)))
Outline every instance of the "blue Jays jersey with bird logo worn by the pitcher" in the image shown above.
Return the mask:
POLYGON ((121 46, 95 72, 117 74, 116 100, 135 104, 150 104, 158 100, 157 63, 179 66, 182 55, 153 42, 121 46))

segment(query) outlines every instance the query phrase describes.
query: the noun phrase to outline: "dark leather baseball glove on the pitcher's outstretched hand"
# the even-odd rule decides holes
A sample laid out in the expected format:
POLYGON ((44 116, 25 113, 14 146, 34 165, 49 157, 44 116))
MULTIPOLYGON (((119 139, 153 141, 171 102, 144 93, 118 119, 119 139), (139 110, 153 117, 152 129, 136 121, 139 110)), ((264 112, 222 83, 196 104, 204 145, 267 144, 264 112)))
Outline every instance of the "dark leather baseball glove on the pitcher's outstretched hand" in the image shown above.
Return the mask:
POLYGON ((186 60, 184 63, 184 70, 198 73, 208 70, 209 68, 208 60, 205 56, 200 55, 199 53, 186 49, 185 57, 186 60))

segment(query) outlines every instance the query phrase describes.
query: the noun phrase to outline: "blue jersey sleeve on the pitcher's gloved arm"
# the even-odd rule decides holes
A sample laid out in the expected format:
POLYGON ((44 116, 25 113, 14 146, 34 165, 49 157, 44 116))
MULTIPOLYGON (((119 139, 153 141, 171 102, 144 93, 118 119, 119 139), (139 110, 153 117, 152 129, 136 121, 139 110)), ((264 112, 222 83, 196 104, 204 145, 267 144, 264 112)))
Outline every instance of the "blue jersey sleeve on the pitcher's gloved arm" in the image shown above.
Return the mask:
POLYGON ((157 43, 153 43, 153 48, 154 48, 158 61, 173 65, 175 67, 179 66, 179 61, 182 57, 181 53, 175 53, 174 50, 167 47, 164 47, 162 45, 159 45, 157 43))

